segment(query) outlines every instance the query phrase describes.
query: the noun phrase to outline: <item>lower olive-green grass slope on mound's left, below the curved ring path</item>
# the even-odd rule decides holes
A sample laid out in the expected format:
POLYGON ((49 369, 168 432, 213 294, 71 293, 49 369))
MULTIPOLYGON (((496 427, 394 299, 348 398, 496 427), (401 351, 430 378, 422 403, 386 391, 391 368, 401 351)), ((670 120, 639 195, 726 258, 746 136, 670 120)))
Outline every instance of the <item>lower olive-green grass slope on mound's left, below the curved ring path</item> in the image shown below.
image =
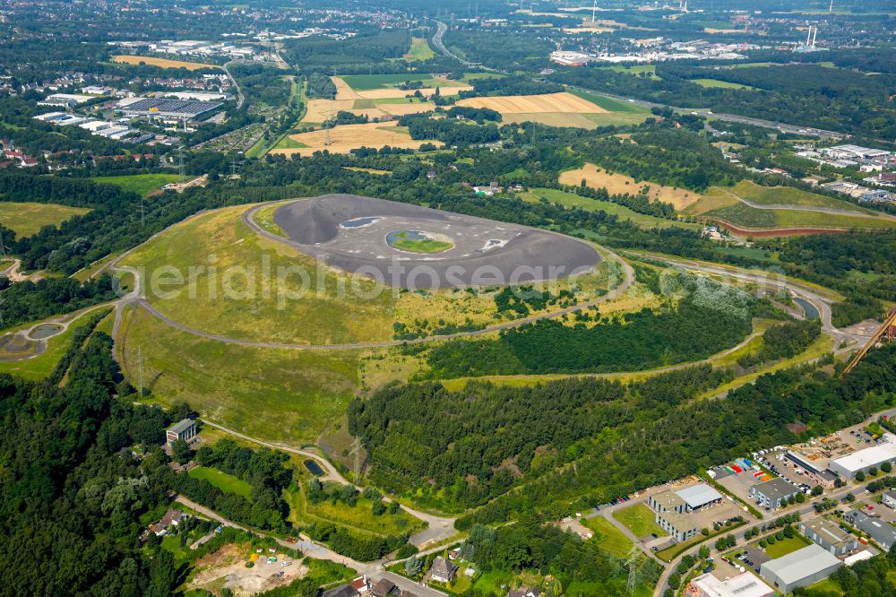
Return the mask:
POLYGON ((314 443, 358 390, 357 351, 225 344, 181 332, 142 309, 125 314, 116 350, 133 384, 140 350, 145 384, 163 406, 185 400, 213 422, 296 446, 314 443))

